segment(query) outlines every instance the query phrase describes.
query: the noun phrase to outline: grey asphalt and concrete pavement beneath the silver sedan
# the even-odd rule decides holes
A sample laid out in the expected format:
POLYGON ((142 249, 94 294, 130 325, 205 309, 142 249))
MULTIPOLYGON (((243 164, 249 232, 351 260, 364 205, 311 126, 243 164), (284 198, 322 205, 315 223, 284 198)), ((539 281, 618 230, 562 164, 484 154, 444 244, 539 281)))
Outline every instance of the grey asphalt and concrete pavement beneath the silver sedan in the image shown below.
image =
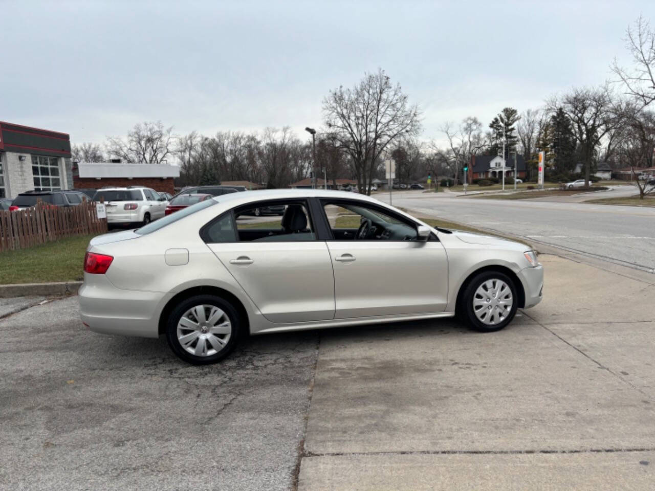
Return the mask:
POLYGON ((75 297, 3 304, 0 488, 652 490, 655 278, 540 259, 498 333, 254 336, 210 367, 86 331, 75 297))

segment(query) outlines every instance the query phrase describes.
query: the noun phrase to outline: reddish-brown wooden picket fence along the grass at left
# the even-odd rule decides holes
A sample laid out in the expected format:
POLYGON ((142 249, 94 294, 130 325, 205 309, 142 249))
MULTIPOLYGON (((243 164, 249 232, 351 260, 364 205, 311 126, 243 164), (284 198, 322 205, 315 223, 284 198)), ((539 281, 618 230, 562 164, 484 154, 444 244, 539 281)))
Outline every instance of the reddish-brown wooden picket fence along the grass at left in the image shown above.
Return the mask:
POLYGON ((107 219, 98 219, 96 204, 77 206, 44 204, 17 211, 0 211, 0 251, 26 249, 64 237, 107 232, 107 219))

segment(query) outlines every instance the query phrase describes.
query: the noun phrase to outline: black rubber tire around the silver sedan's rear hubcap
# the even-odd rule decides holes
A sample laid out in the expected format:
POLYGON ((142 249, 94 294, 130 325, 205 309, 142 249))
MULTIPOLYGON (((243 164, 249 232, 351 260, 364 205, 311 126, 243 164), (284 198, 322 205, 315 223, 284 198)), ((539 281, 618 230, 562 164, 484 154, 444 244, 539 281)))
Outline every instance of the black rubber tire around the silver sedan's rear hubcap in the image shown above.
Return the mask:
MULTIPOLYGON (((241 319, 238 312, 227 300, 222 299, 221 297, 216 297, 215 295, 195 295, 194 297, 189 297, 188 299, 179 302, 170 313, 170 316, 168 316, 168 320, 166 321, 166 340, 168 340, 168 346, 170 346, 170 349, 184 361, 187 361, 192 365, 209 365, 211 363, 217 363, 217 361, 225 358, 234 350, 241 335, 241 325, 241 319), (183 348, 178 340, 178 323, 180 319, 189 309, 198 305, 216 306, 220 308, 223 310, 227 318, 229 318, 231 323, 232 333, 227 344, 225 344, 220 351, 212 355, 198 356, 191 354, 183 348)), ((207 344, 206 346, 210 345, 207 344)))

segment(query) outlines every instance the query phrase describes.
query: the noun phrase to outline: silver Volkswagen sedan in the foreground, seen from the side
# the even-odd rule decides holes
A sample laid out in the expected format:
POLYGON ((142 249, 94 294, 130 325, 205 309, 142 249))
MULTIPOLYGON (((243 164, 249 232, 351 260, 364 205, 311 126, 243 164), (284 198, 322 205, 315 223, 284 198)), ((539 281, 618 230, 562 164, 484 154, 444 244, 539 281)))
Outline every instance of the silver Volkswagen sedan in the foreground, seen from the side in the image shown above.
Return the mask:
POLYGON ((369 196, 279 189, 92 239, 79 302, 92 331, 165 335, 181 359, 204 364, 249 333, 455 314, 496 331, 540 302, 543 282, 523 244, 432 228, 369 196), (271 206, 285 207, 279 221, 252 218, 271 206), (340 224, 343 209, 358 227, 340 224))

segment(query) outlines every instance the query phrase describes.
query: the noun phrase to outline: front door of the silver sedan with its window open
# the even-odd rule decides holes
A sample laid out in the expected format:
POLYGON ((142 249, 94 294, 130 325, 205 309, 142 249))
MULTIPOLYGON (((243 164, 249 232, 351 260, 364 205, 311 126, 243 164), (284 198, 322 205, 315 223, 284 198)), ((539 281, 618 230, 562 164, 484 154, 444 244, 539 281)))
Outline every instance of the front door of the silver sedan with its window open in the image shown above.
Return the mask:
POLYGON ((390 209, 323 201, 333 240, 335 318, 442 312, 448 263, 436 237, 417 240, 415 224, 390 209))

